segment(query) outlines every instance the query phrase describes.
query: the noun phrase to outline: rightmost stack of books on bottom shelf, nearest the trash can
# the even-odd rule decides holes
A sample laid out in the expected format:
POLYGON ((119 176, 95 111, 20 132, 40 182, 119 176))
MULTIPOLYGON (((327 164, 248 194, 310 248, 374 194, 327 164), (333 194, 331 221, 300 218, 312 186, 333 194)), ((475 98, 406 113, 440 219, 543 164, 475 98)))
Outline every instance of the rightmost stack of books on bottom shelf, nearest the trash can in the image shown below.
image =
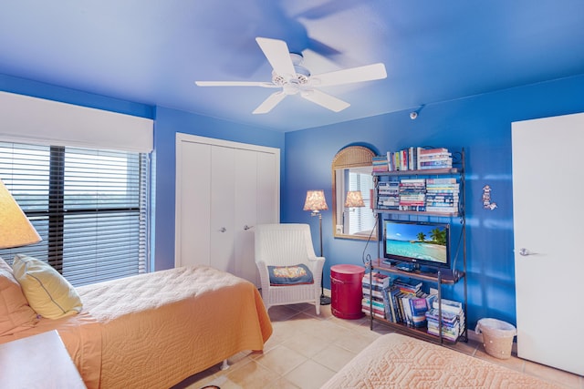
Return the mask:
MULTIPOLYGON (((464 333, 465 318, 462 302, 453 302, 442 299, 442 336, 444 339, 455 342, 464 333)), ((428 333, 439 336, 438 301, 434 299, 432 309, 426 312, 428 333)))

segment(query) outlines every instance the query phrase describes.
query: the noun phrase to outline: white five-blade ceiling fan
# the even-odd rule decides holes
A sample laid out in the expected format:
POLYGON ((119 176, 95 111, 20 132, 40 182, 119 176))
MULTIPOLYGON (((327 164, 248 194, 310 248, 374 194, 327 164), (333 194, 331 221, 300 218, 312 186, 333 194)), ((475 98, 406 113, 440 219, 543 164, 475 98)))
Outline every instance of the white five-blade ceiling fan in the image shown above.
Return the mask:
POLYGON ((273 68, 271 82, 256 81, 195 81, 199 87, 279 87, 281 90, 271 94, 254 114, 266 114, 289 95, 300 95, 308 101, 334 112, 339 112, 350 104, 337 97, 322 92, 318 87, 351 84, 387 77, 385 66, 381 63, 364 67, 351 67, 334 72, 311 75, 308 68, 302 66, 303 57, 290 53, 286 42, 279 39, 256 37, 268 62, 273 68))

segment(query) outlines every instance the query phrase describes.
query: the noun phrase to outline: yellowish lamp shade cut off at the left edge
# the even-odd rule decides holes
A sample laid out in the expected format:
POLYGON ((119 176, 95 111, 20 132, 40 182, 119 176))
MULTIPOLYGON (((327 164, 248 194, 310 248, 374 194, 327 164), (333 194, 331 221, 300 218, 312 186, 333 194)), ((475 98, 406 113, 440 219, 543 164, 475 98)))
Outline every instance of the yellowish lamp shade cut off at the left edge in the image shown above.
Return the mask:
POLYGON ((0 249, 26 246, 41 241, 4 182, 0 180, 0 249))

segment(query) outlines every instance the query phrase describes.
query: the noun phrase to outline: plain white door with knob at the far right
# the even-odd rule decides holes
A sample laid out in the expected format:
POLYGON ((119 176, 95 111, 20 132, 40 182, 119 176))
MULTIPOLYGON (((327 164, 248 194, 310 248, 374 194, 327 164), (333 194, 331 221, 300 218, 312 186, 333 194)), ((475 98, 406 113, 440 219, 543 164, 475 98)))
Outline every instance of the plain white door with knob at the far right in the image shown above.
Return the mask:
POLYGON ((517 353, 584 374, 584 114, 513 123, 517 353))

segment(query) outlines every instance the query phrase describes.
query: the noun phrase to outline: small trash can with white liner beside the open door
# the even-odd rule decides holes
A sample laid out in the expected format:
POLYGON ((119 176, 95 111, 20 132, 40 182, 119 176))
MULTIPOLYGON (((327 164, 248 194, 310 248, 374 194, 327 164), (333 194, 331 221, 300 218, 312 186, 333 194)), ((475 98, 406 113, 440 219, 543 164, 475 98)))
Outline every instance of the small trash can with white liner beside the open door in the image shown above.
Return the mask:
POLYGON ((511 356, 513 338, 517 330, 513 324, 497 319, 481 319, 476 323, 475 333, 483 333, 483 345, 489 355, 499 359, 511 356))

